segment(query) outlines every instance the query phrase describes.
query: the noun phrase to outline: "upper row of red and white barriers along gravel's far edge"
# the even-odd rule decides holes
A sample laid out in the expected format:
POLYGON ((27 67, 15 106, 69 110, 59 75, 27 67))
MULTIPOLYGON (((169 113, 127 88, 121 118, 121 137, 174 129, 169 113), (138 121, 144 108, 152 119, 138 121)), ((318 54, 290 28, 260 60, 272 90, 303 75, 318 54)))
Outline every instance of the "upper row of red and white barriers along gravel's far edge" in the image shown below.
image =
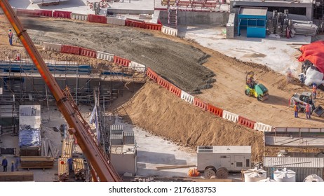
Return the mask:
POLYGON ((163 34, 169 34, 170 36, 177 36, 177 29, 165 27, 161 24, 155 24, 151 22, 144 22, 144 20, 135 20, 130 18, 114 18, 106 17, 104 15, 94 14, 79 14, 72 13, 69 11, 62 10, 27 10, 27 9, 16 9, 17 15, 24 15, 30 17, 52 17, 52 18, 69 18, 74 20, 83 20, 88 22, 103 23, 109 25, 120 25, 128 27, 137 27, 142 29, 150 29, 161 31, 163 34))

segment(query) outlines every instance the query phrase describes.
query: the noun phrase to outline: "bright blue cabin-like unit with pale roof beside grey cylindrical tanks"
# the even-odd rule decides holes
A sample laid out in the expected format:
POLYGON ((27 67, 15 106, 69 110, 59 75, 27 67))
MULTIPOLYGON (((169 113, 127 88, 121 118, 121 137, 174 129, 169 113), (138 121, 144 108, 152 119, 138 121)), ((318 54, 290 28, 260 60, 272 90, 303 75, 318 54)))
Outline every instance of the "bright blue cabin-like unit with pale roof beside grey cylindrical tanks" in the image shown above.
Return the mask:
POLYGON ((238 10, 238 36, 246 29, 247 37, 266 37, 266 12, 268 8, 240 7, 238 10))

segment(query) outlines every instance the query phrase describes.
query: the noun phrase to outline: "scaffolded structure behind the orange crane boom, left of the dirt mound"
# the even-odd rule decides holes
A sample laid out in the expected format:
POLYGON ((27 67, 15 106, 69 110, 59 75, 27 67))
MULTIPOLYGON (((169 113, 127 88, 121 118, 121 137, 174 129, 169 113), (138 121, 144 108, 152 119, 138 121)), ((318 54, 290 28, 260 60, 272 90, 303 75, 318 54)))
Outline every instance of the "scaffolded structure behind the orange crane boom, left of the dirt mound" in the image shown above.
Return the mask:
MULTIPOLYGON (((72 97, 79 102, 93 102, 93 90, 98 87, 100 102, 112 102, 122 95, 123 90, 130 90, 129 83, 144 83, 144 72, 115 65, 98 65, 93 68, 79 62, 45 60, 62 89, 69 87, 72 97)), ((51 102, 46 85, 34 63, 29 59, 19 61, 0 60, 0 87, 4 94, 15 94, 19 102, 51 102)))

